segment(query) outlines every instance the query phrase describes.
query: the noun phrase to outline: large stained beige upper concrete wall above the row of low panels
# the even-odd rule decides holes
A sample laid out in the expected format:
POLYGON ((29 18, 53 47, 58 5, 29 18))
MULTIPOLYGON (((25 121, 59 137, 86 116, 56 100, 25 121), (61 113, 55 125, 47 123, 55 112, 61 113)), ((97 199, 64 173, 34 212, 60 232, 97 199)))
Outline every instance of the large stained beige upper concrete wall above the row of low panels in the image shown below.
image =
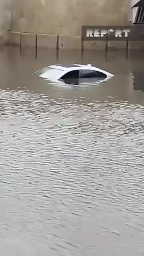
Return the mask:
POLYGON ((81 35, 82 25, 129 24, 130 0, 13 0, 12 30, 81 35))

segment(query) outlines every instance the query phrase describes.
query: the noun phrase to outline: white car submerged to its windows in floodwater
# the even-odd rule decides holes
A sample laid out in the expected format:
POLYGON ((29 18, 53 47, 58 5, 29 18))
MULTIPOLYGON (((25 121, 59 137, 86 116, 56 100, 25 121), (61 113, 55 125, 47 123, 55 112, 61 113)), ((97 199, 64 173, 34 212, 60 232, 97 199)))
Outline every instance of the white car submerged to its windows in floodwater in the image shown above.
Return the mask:
POLYGON ((91 66, 91 64, 52 65, 38 70, 33 75, 38 75, 39 77, 48 79, 52 82, 70 79, 80 80, 81 78, 82 80, 84 80, 84 78, 95 78, 96 80, 100 78, 101 80, 102 78, 106 79, 114 76, 105 70, 91 66))

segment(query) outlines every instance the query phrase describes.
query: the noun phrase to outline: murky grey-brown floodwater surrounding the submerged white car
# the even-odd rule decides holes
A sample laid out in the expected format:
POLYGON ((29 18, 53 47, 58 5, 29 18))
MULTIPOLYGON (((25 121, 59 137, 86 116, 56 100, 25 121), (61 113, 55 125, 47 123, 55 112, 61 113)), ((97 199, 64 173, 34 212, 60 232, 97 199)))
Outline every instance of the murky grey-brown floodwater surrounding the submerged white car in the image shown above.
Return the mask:
POLYGON ((0 51, 0 254, 144 255, 144 52, 0 51), (96 86, 32 76, 55 63, 96 86))

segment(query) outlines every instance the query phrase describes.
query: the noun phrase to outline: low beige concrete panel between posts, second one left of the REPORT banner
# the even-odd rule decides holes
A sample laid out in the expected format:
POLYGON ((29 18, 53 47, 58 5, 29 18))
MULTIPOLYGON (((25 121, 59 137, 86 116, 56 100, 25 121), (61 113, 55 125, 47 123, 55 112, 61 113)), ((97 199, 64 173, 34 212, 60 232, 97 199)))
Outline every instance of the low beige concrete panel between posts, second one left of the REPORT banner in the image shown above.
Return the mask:
POLYGON ((57 39, 56 35, 38 34, 38 48, 56 49, 57 39))

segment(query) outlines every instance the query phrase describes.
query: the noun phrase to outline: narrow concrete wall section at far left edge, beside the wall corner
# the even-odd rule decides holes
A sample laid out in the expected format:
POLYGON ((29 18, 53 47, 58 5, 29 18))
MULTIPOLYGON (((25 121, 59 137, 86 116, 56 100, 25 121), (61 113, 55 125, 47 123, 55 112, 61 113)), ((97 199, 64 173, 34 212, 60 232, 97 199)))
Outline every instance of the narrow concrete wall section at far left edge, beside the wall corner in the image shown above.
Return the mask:
POLYGON ((11 0, 0 0, 0 44, 6 40, 11 26, 11 0))

